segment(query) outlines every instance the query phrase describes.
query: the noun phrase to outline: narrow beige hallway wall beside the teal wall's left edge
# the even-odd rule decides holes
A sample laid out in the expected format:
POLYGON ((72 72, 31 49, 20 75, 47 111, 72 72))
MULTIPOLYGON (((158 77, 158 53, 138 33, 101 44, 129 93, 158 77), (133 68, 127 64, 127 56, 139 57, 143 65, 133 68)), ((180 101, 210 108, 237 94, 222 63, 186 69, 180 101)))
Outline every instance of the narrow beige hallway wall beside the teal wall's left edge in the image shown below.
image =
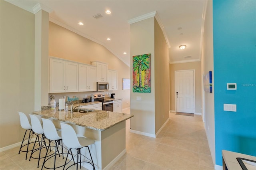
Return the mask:
MULTIPOLYGON (((215 164, 215 125, 214 125, 214 70, 213 70, 213 27, 212 27, 212 0, 208 1, 204 22, 204 38, 202 47, 201 72, 205 75, 212 71, 212 93, 203 93, 205 103, 205 129, 208 144, 215 164)), ((203 99, 203 97, 202 97, 203 99)), ((203 101, 203 100, 202 100, 203 101)), ((202 106, 204 106, 202 104, 202 106)), ((203 107, 202 107, 203 108, 203 107)))

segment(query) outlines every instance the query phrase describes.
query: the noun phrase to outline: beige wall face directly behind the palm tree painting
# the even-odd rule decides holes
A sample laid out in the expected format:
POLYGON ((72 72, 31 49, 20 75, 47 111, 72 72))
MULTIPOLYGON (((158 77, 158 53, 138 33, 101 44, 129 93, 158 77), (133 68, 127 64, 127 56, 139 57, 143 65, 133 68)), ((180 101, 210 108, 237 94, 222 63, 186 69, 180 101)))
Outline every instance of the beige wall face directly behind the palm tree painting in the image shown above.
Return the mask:
MULTIPOLYGON (((134 93, 131 90, 130 119, 131 130, 155 134, 155 54, 154 17, 130 25, 130 54, 132 77, 132 56, 151 53, 151 93, 134 93), (142 97, 137 101, 136 97, 142 97)), ((131 79, 132 86, 132 79, 131 79)), ((131 87, 132 89, 132 87, 131 87)))

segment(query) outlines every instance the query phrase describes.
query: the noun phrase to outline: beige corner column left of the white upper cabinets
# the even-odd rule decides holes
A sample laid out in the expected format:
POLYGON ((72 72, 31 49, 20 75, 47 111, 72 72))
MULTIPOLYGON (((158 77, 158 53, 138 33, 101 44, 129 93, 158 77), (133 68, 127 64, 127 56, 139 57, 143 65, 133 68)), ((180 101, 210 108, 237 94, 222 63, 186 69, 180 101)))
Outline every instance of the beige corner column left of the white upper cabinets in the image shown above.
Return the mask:
POLYGON ((35 111, 48 105, 48 32, 49 13, 40 10, 35 14, 35 111))

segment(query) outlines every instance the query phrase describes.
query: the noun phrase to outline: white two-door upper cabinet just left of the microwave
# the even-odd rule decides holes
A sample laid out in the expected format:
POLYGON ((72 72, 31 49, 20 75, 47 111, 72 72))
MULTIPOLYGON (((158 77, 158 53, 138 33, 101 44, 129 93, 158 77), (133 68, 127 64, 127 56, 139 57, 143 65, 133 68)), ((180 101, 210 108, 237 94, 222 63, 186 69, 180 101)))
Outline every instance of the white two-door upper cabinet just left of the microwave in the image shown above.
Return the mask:
POLYGON ((79 91, 96 90, 96 66, 79 64, 79 91))

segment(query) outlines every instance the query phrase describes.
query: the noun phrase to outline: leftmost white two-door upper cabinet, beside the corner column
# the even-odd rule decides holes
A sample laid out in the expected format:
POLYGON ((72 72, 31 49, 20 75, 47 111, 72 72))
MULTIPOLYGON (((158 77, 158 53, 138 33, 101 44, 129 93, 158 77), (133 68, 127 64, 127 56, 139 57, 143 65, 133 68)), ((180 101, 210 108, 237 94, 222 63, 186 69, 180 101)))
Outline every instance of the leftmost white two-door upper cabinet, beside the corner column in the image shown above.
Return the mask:
POLYGON ((50 58, 49 93, 78 91, 78 63, 50 58))

